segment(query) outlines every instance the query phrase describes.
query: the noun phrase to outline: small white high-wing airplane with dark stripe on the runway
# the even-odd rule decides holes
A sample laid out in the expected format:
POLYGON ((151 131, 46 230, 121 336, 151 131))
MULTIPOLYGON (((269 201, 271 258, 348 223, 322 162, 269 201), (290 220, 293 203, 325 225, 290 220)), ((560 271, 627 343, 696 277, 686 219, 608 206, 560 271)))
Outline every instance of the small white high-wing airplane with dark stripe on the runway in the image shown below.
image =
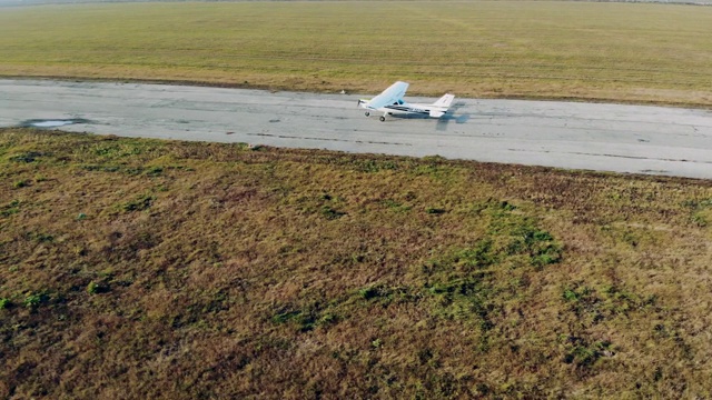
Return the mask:
POLYGON ((358 107, 366 109, 366 117, 370 117, 372 111, 383 112, 380 121, 386 120, 386 116, 393 114, 421 114, 433 118, 441 118, 455 99, 454 94, 445 94, 432 104, 411 104, 403 101, 405 91, 408 90, 407 82, 397 81, 380 94, 370 100, 358 100, 358 107))

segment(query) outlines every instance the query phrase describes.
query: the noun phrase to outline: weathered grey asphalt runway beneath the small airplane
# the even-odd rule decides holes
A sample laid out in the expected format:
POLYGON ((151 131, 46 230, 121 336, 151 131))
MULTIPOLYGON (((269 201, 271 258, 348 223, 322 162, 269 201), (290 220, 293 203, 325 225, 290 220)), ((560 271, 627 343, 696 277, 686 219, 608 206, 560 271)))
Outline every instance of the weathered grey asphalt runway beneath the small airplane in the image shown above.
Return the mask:
POLYGON ((710 110, 455 98, 441 120, 380 122, 356 107, 375 94, 0 80, 0 127, 712 179, 710 110))

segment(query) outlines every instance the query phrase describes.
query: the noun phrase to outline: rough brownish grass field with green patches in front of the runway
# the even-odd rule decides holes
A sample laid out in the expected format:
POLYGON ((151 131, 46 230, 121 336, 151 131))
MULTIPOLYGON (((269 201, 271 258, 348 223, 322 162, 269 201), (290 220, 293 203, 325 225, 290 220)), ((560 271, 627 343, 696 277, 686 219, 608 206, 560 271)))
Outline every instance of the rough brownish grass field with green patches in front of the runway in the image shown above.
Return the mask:
POLYGON ((709 398, 712 182, 0 130, 2 398, 709 398))

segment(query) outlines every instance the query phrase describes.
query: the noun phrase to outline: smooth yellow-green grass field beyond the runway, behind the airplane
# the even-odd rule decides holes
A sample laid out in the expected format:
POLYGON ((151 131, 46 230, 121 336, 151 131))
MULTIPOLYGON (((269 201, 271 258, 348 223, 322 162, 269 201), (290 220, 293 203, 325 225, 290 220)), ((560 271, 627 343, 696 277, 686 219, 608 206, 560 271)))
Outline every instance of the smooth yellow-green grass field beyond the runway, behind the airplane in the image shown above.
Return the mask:
POLYGON ((3 8, 0 76, 712 106, 712 8, 433 1, 3 8))

